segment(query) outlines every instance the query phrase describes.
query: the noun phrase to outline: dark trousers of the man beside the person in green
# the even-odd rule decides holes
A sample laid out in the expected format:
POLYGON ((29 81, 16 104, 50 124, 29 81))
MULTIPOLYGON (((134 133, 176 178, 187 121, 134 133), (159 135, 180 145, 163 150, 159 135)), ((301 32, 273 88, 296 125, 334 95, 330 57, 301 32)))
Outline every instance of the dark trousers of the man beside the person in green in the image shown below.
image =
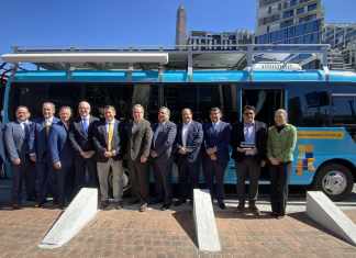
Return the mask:
POLYGON ((256 202, 258 195, 258 179, 260 175, 260 162, 255 157, 244 157, 236 161, 237 198, 241 204, 245 203, 245 181, 249 179, 248 201, 256 202))

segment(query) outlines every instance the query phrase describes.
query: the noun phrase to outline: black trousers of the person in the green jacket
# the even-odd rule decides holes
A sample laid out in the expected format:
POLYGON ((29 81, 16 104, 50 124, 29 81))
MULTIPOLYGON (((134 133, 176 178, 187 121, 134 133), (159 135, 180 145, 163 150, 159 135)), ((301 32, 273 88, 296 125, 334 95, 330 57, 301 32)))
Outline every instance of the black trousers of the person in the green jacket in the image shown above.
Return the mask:
POLYGON ((285 215, 288 200, 288 184, 291 172, 291 162, 285 162, 277 166, 271 165, 269 172, 271 187, 271 210, 278 215, 285 215))

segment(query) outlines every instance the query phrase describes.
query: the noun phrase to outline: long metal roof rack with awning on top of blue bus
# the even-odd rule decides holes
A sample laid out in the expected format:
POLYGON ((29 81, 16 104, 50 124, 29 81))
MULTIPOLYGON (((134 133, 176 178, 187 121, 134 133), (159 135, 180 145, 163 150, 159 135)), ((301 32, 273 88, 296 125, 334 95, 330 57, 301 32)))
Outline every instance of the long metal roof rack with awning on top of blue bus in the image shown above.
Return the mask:
MULTIPOLYGON (((13 47, 7 63, 31 63, 46 70, 254 70, 254 64, 319 60, 327 69, 327 44, 179 45, 174 47, 13 47)), ((297 63, 297 64, 298 64, 297 63)), ((258 66, 257 66, 258 67, 258 66)))

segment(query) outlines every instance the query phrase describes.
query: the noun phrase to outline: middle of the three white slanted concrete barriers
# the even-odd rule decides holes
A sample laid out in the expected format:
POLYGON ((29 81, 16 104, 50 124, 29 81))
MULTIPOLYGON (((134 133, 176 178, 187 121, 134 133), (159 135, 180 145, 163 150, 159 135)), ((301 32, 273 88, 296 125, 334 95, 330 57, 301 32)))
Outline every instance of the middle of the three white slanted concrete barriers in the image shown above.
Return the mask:
POLYGON ((193 216, 198 247, 203 251, 221 251, 219 233, 209 190, 193 190, 193 216))

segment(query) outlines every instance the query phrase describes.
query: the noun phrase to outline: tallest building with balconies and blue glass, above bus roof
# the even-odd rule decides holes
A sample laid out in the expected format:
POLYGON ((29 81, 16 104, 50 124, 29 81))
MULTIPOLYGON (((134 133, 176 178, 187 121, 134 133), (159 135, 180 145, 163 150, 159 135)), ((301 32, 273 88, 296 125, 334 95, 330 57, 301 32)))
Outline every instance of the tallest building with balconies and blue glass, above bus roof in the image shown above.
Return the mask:
POLYGON ((324 11, 321 0, 257 0, 257 44, 319 44, 324 11))

